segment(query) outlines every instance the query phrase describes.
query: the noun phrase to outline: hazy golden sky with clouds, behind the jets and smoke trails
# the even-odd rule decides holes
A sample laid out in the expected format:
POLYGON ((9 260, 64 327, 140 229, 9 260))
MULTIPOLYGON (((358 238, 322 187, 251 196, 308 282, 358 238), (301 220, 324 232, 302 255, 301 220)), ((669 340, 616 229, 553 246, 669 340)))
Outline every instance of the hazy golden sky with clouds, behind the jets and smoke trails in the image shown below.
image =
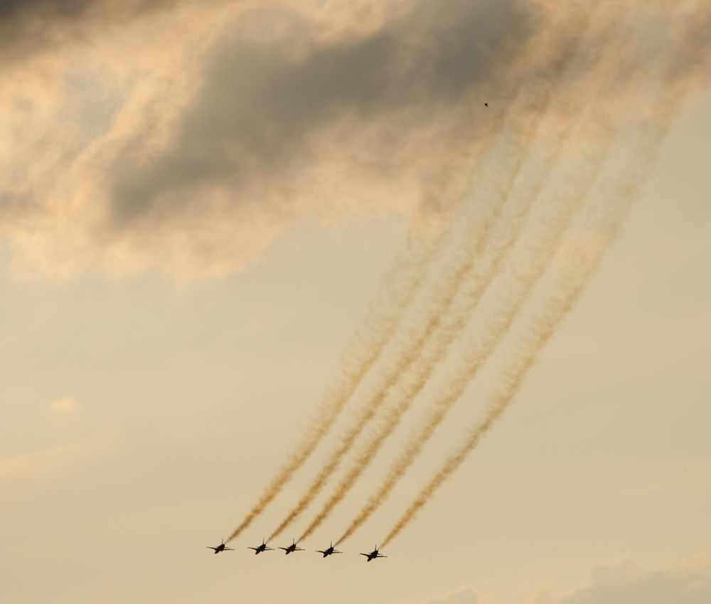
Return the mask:
MULTIPOLYGON (((601 6, 0 2, 0 600, 709 602, 711 13, 695 1, 672 18, 664 2, 601 6), (603 134, 616 137, 591 193, 604 203, 626 153, 638 166, 635 150, 651 147, 635 147, 637 133, 666 119, 667 105, 646 102, 660 84, 679 105, 599 269, 388 558, 365 566, 355 554, 382 542, 459 443, 535 314, 345 553, 313 550, 378 486, 506 280, 308 551, 246 548, 299 499, 328 439, 235 551, 205 549, 318 420, 413 225, 454 224, 454 250, 428 273, 442 282, 487 191, 514 169, 510 150, 528 152, 533 179, 560 137, 549 206, 531 220, 571 198, 603 134), (560 101, 538 122, 547 94, 560 101)), ((525 267, 512 258, 502 272, 525 267)))

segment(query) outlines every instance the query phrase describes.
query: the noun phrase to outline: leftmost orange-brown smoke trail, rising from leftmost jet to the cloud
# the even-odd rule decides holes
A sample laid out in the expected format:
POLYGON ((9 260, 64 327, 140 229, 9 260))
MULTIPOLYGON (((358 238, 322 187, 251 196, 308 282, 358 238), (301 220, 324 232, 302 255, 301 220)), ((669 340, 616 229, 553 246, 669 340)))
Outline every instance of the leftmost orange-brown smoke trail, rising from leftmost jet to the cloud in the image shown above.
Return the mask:
POLYGON ((442 222, 437 219, 423 225, 415 225, 407 233, 405 245, 385 273, 378 297, 368 309, 363 326, 356 332, 343 354, 341 375, 338 376, 335 387, 324 398, 321 409, 313 425, 306 431, 304 439, 277 471, 254 507, 232 531, 228 543, 240 536, 274 497, 277 497, 284 484, 304 465, 336 421, 365 374, 378 360, 395 333, 402 311, 410 304, 422 284, 427 264, 442 244, 445 233, 442 222))

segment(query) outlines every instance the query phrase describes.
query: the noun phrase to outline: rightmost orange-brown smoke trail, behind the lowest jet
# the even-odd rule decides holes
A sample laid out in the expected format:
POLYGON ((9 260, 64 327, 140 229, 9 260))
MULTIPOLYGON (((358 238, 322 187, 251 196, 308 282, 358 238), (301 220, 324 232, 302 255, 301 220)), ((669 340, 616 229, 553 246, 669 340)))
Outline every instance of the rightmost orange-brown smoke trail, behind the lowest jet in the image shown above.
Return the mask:
MULTIPOLYGON (((683 53, 680 53, 683 55, 683 53)), ((675 57, 678 60, 679 55, 675 57)), ((670 72, 673 75, 673 72, 670 72)), ((525 377, 535 364, 538 354, 550 340, 555 329, 574 308, 590 277, 597 271, 604 251, 619 232, 629 208, 638 197, 643 184, 651 175, 658 158, 661 142, 668 132, 673 117, 685 88, 690 80, 684 78, 675 83, 662 82, 666 90, 661 100, 656 103, 650 114, 642 118, 636 126, 636 140, 631 146, 630 161, 624 167, 619 179, 611 186, 606 201, 599 203, 597 216, 593 218, 592 231, 588 238, 577 242, 567 250, 567 260, 560 270, 557 291, 550 293, 544 307, 540 309, 528 326, 528 331, 519 342, 518 349, 509 359, 509 364, 501 378, 501 386, 491 396, 491 403, 486 417, 471 429, 464 443, 444 462, 444 465, 425 484, 416 499, 402 514, 383 540, 383 546, 405 529, 415 518, 417 512, 434 496, 437 489, 464 462, 469 453, 476 448, 482 436, 491 429, 501 417, 508 404, 520 390, 525 377)))

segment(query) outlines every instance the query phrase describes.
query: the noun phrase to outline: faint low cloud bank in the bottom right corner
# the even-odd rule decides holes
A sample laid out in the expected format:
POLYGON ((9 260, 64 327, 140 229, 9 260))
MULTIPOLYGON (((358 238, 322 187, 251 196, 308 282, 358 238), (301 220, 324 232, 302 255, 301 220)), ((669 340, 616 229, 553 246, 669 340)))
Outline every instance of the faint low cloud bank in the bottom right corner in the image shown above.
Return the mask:
POLYGON ((597 566, 581 586, 546 590, 530 604, 707 604, 711 563, 686 563, 645 571, 633 561, 597 566))

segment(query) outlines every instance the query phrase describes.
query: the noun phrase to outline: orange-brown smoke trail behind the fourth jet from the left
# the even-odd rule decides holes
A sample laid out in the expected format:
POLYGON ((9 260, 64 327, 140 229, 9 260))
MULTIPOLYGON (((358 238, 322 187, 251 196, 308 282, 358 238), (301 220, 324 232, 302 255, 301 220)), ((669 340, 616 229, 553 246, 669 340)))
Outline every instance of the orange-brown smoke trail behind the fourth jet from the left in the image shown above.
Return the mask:
MULTIPOLYGON (((609 23, 601 18, 599 26, 608 28, 609 23)), ((550 194, 545 201, 545 207, 541 212, 545 224, 539 224, 538 228, 534 226, 533 233, 523 241, 523 249, 519 253, 520 258, 515 258, 511 263, 507 282, 496 292, 497 297, 493 304, 494 310, 490 313, 491 318, 483 322, 481 331, 470 335, 469 346, 464 351, 464 365, 460 367, 458 373, 444 380, 447 385, 442 388, 421 423, 413 430, 405 448, 387 470, 380 487, 368 498, 360 513, 338 540, 338 544, 348 539, 383 504, 397 482, 415 462, 424 445, 442 423, 451 407, 459 400, 466 386, 496 349, 498 342, 506 335, 518 312, 545 272, 574 213, 582 206, 584 199, 594 185, 611 147, 614 124, 610 122, 607 112, 600 112, 588 107, 581 115, 576 116, 579 118, 577 120, 578 127, 573 133, 572 123, 575 120, 572 119, 571 108, 582 104, 582 99, 589 95, 591 90, 597 88, 602 75, 614 73, 614 65, 611 64, 610 57, 614 57, 617 52, 624 52, 630 39, 624 33, 624 28, 623 32, 620 32, 618 28, 611 28, 611 35, 616 38, 604 41, 609 51, 606 55, 607 60, 604 60, 605 55, 603 55, 597 68, 589 73, 592 85, 586 86, 579 83, 571 90, 566 90, 568 94, 563 94, 563 98, 553 104, 551 113, 557 116, 555 122, 547 122, 545 113, 539 116, 540 122, 545 123, 546 127, 545 131, 540 129, 541 131, 536 134, 545 140, 545 144, 535 147, 538 154, 530 162, 532 169, 523 174, 516 186, 509 192, 509 196, 512 198, 511 203, 518 208, 518 212, 514 214, 517 220, 504 222, 502 241, 506 242, 506 245, 512 245, 515 242, 515 233, 520 229, 521 219, 528 214, 533 202, 540 195, 548 174, 555 162, 560 159, 561 154, 566 151, 565 143, 568 142, 572 147, 571 152, 577 154, 579 158, 576 165, 563 166, 567 169, 565 188, 550 194), (561 120, 561 115, 567 115, 570 119, 561 120)), ((594 36, 594 33, 591 38, 592 43, 600 44, 602 42, 594 36)), ((589 48, 584 48, 585 54, 589 52, 591 52, 589 48)), ((575 67, 577 65, 573 63, 572 68, 575 67)), ((496 260, 500 263, 501 255, 496 260)), ((494 266, 498 267, 498 263, 495 262, 494 266)), ((495 274, 496 271, 491 272, 488 275, 489 279, 495 274)), ((425 377, 425 379, 427 378, 429 375, 425 377)), ((418 386, 419 388, 413 394, 419 392, 424 383, 418 386)))

